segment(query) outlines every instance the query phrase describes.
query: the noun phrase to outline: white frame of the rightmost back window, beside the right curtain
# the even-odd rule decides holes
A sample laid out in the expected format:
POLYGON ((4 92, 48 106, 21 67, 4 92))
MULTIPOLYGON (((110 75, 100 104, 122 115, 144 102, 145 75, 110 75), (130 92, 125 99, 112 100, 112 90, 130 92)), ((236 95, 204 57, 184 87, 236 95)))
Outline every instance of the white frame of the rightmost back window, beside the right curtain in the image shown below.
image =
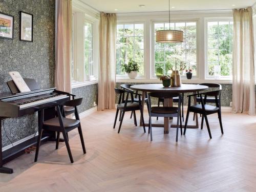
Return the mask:
MULTIPOLYGON (((233 18, 232 17, 207 17, 205 18, 205 22, 204 22, 204 34, 205 34, 205 45, 204 45, 204 58, 205 58, 205 71, 204 71, 204 79, 208 79, 208 80, 232 80, 232 75, 229 77, 225 77, 225 76, 220 76, 220 78, 215 79, 214 76, 210 76, 208 75, 208 22, 233 22, 233 18)), ((219 43, 218 43, 219 44, 219 43)), ((219 51, 219 48, 218 48, 219 51)))

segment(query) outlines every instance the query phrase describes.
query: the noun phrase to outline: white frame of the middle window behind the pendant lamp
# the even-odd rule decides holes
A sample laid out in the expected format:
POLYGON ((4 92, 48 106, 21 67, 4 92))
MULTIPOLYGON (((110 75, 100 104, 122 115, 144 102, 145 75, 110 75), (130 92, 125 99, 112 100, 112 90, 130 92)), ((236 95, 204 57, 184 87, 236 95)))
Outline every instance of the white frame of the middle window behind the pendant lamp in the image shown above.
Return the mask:
MULTIPOLYGON (((190 22, 195 22, 196 23, 196 29, 197 29, 197 33, 196 33, 196 37, 197 37, 197 46, 196 46, 196 50, 197 50, 197 75, 193 75, 194 78, 198 78, 199 77, 199 41, 198 41, 198 19, 177 19, 177 20, 170 20, 170 23, 190 23, 190 22)), ((151 50, 151 55, 152 55, 152 62, 151 62, 151 79, 157 79, 156 75, 155 75, 155 24, 161 24, 161 23, 169 23, 169 20, 152 20, 152 50, 151 50)), ((182 75, 181 76, 182 79, 185 79, 186 76, 182 75)))

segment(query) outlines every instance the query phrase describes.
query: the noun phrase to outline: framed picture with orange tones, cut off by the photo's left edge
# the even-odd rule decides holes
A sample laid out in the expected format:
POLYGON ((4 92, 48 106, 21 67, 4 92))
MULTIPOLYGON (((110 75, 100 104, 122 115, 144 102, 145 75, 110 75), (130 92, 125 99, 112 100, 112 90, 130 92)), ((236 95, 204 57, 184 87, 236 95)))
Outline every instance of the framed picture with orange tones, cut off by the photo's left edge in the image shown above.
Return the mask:
POLYGON ((0 38, 13 39, 13 16, 0 12, 0 38))

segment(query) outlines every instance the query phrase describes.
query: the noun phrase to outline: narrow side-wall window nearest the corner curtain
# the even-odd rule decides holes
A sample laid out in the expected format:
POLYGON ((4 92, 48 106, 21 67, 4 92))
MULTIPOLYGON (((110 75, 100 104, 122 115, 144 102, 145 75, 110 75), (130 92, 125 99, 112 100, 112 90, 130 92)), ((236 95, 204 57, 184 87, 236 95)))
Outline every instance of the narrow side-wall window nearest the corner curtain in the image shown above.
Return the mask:
POLYGON ((84 23, 84 67, 86 79, 89 80, 94 76, 93 67, 93 24, 84 23))

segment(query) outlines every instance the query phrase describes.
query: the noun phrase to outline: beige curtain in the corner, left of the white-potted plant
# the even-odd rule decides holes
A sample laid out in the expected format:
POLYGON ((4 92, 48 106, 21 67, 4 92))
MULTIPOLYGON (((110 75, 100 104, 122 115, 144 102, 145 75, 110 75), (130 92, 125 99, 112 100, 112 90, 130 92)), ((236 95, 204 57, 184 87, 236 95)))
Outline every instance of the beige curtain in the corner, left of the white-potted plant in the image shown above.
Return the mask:
POLYGON ((116 14, 100 13, 98 111, 115 108, 116 14))

